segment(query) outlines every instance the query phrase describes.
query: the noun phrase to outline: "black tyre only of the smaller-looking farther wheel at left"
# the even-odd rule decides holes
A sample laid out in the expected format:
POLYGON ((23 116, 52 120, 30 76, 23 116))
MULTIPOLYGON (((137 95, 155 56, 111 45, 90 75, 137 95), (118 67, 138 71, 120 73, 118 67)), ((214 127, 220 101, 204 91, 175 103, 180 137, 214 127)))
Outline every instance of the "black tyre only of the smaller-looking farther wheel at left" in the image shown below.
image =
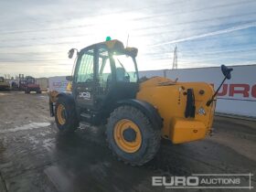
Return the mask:
POLYGON ((75 108, 74 101, 69 101, 65 97, 59 97, 55 104, 55 122, 61 133, 72 133, 79 127, 79 120, 75 108), (65 108, 65 123, 61 124, 58 120, 58 108, 59 105, 63 105, 65 108))

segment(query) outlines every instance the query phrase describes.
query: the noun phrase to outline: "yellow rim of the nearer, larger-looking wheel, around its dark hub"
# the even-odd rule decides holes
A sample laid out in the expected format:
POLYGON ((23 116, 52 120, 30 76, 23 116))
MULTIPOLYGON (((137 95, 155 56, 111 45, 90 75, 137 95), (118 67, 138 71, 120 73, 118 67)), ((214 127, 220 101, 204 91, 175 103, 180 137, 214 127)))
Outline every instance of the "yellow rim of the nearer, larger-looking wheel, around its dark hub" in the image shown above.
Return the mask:
POLYGON ((139 127, 131 120, 123 119, 115 124, 114 130, 115 143, 126 153, 135 153, 142 145, 142 134, 139 127), (132 129, 135 133, 133 141, 127 141, 123 133, 127 129, 132 129))

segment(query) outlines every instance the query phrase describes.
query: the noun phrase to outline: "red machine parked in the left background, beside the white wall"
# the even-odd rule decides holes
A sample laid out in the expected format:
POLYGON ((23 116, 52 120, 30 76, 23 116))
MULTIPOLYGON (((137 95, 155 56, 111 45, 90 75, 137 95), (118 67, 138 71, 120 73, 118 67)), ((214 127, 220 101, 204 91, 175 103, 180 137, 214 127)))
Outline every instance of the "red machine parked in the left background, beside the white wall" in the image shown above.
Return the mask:
POLYGON ((37 80, 31 76, 24 77, 23 74, 19 74, 19 90, 25 91, 25 93, 30 93, 30 91, 41 93, 37 80))

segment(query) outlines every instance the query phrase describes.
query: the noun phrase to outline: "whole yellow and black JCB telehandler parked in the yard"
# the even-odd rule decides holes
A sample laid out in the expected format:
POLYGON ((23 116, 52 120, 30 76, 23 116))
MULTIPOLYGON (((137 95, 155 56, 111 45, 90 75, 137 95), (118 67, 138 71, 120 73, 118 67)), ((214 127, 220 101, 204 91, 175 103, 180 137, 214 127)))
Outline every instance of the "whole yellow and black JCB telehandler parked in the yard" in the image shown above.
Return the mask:
MULTIPOLYGON (((69 58, 75 50, 69 50, 69 58)), ((130 165, 151 160, 161 138, 173 144, 205 138, 218 92, 205 82, 139 79, 137 52, 119 40, 77 50, 74 73, 67 77, 71 91, 49 93, 50 113, 60 132, 75 131, 81 121, 103 124, 113 154, 130 165)), ((232 69, 221 69, 224 80, 230 79, 232 69)))

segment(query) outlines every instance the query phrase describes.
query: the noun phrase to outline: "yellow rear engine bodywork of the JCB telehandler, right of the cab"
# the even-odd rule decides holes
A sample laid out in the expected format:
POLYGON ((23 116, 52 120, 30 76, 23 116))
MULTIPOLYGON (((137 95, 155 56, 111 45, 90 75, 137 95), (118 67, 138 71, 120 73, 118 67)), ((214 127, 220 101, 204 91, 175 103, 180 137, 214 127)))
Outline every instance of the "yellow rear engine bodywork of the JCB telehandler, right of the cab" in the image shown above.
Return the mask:
POLYGON ((205 82, 176 82, 155 77, 140 84, 136 99, 154 105, 163 118, 162 137, 170 139, 174 144, 181 144, 203 139, 210 133, 215 102, 210 106, 206 103, 213 94, 213 87, 205 82), (185 117, 186 93, 190 88, 195 95, 195 118, 185 117))

